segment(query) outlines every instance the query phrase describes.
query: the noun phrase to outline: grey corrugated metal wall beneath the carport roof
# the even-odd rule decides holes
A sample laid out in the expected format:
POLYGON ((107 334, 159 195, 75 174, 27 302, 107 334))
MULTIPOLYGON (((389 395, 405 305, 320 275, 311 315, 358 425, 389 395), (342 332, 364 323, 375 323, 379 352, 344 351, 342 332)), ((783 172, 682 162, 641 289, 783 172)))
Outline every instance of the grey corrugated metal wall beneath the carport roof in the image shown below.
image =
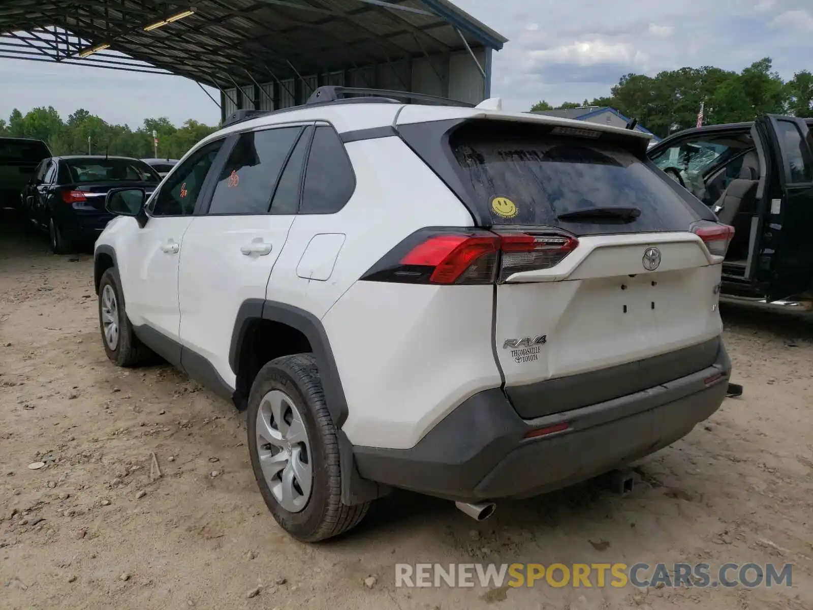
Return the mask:
MULTIPOLYGON (((474 54, 480 68, 490 79, 490 51, 476 47, 474 54)), ((260 110, 273 110, 276 107, 289 108, 303 103, 319 85, 339 85, 393 89, 415 93, 437 95, 441 98, 456 99, 461 102, 479 103, 485 99, 490 89, 489 83, 477 67, 467 50, 450 54, 431 55, 417 59, 402 59, 397 62, 382 63, 363 68, 348 68, 344 71, 328 72, 321 75, 302 75, 284 81, 262 83, 262 91, 254 85, 242 88, 242 95, 236 89, 225 89, 241 108, 253 108, 259 102, 260 110), (256 90, 255 90, 256 89, 256 90)), ((236 106, 221 94, 224 118, 236 111, 236 106)))

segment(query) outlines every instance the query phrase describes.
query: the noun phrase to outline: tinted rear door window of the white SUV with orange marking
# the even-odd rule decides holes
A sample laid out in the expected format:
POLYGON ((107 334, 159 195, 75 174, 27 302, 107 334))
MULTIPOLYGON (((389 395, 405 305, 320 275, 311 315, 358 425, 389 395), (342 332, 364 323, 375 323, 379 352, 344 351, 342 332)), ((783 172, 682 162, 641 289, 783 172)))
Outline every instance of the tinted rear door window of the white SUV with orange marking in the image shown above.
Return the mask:
POLYGON ((243 133, 228 155, 209 214, 265 214, 301 127, 243 133))

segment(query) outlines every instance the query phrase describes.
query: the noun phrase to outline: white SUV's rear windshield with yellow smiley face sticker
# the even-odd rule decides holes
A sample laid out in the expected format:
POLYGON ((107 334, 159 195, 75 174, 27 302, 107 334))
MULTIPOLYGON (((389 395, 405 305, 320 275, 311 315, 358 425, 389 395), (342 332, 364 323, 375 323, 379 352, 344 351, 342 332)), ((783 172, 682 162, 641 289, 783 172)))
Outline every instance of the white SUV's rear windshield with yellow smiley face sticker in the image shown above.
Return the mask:
MULTIPOLYGON (((528 131, 527 126, 525 131, 528 131)), ((520 133, 503 125, 460 129, 450 140, 462 179, 494 224, 530 224, 576 234, 685 231, 698 215, 632 152, 589 137, 520 133), (591 208, 640 210, 560 219, 591 208)))

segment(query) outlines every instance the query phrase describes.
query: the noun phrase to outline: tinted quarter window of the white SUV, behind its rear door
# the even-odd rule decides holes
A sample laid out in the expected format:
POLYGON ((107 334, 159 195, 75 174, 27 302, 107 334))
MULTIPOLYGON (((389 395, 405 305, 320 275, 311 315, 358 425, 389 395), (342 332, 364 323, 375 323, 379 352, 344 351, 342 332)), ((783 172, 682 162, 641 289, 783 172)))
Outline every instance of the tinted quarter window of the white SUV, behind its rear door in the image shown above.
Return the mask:
POLYGON ((307 160, 300 214, 333 214, 355 190, 355 174, 345 145, 332 127, 316 128, 307 160))

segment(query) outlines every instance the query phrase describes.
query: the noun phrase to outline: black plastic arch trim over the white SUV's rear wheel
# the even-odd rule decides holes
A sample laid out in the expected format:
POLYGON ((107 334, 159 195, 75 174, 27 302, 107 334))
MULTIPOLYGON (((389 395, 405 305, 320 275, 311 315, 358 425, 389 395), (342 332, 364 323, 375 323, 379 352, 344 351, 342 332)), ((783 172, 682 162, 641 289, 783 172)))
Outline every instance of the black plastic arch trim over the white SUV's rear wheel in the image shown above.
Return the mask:
POLYGON ((328 412, 333 418, 333 424, 341 429, 347 419, 347 400, 345 391, 341 386, 341 379, 330 348, 328 333, 325 332, 322 322, 311 312, 287 303, 277 303, 263 298, 248 298, 237 311, 234 320, 232 342, 228 351, 228 364, 235 375, 238 374, 238 359, 242 350, 243 341, 250 325, 254 320, 271 320, 297 329, 305 335, 311 344, 316 366, 319 368, 324 390, 325 402, 328 412))

